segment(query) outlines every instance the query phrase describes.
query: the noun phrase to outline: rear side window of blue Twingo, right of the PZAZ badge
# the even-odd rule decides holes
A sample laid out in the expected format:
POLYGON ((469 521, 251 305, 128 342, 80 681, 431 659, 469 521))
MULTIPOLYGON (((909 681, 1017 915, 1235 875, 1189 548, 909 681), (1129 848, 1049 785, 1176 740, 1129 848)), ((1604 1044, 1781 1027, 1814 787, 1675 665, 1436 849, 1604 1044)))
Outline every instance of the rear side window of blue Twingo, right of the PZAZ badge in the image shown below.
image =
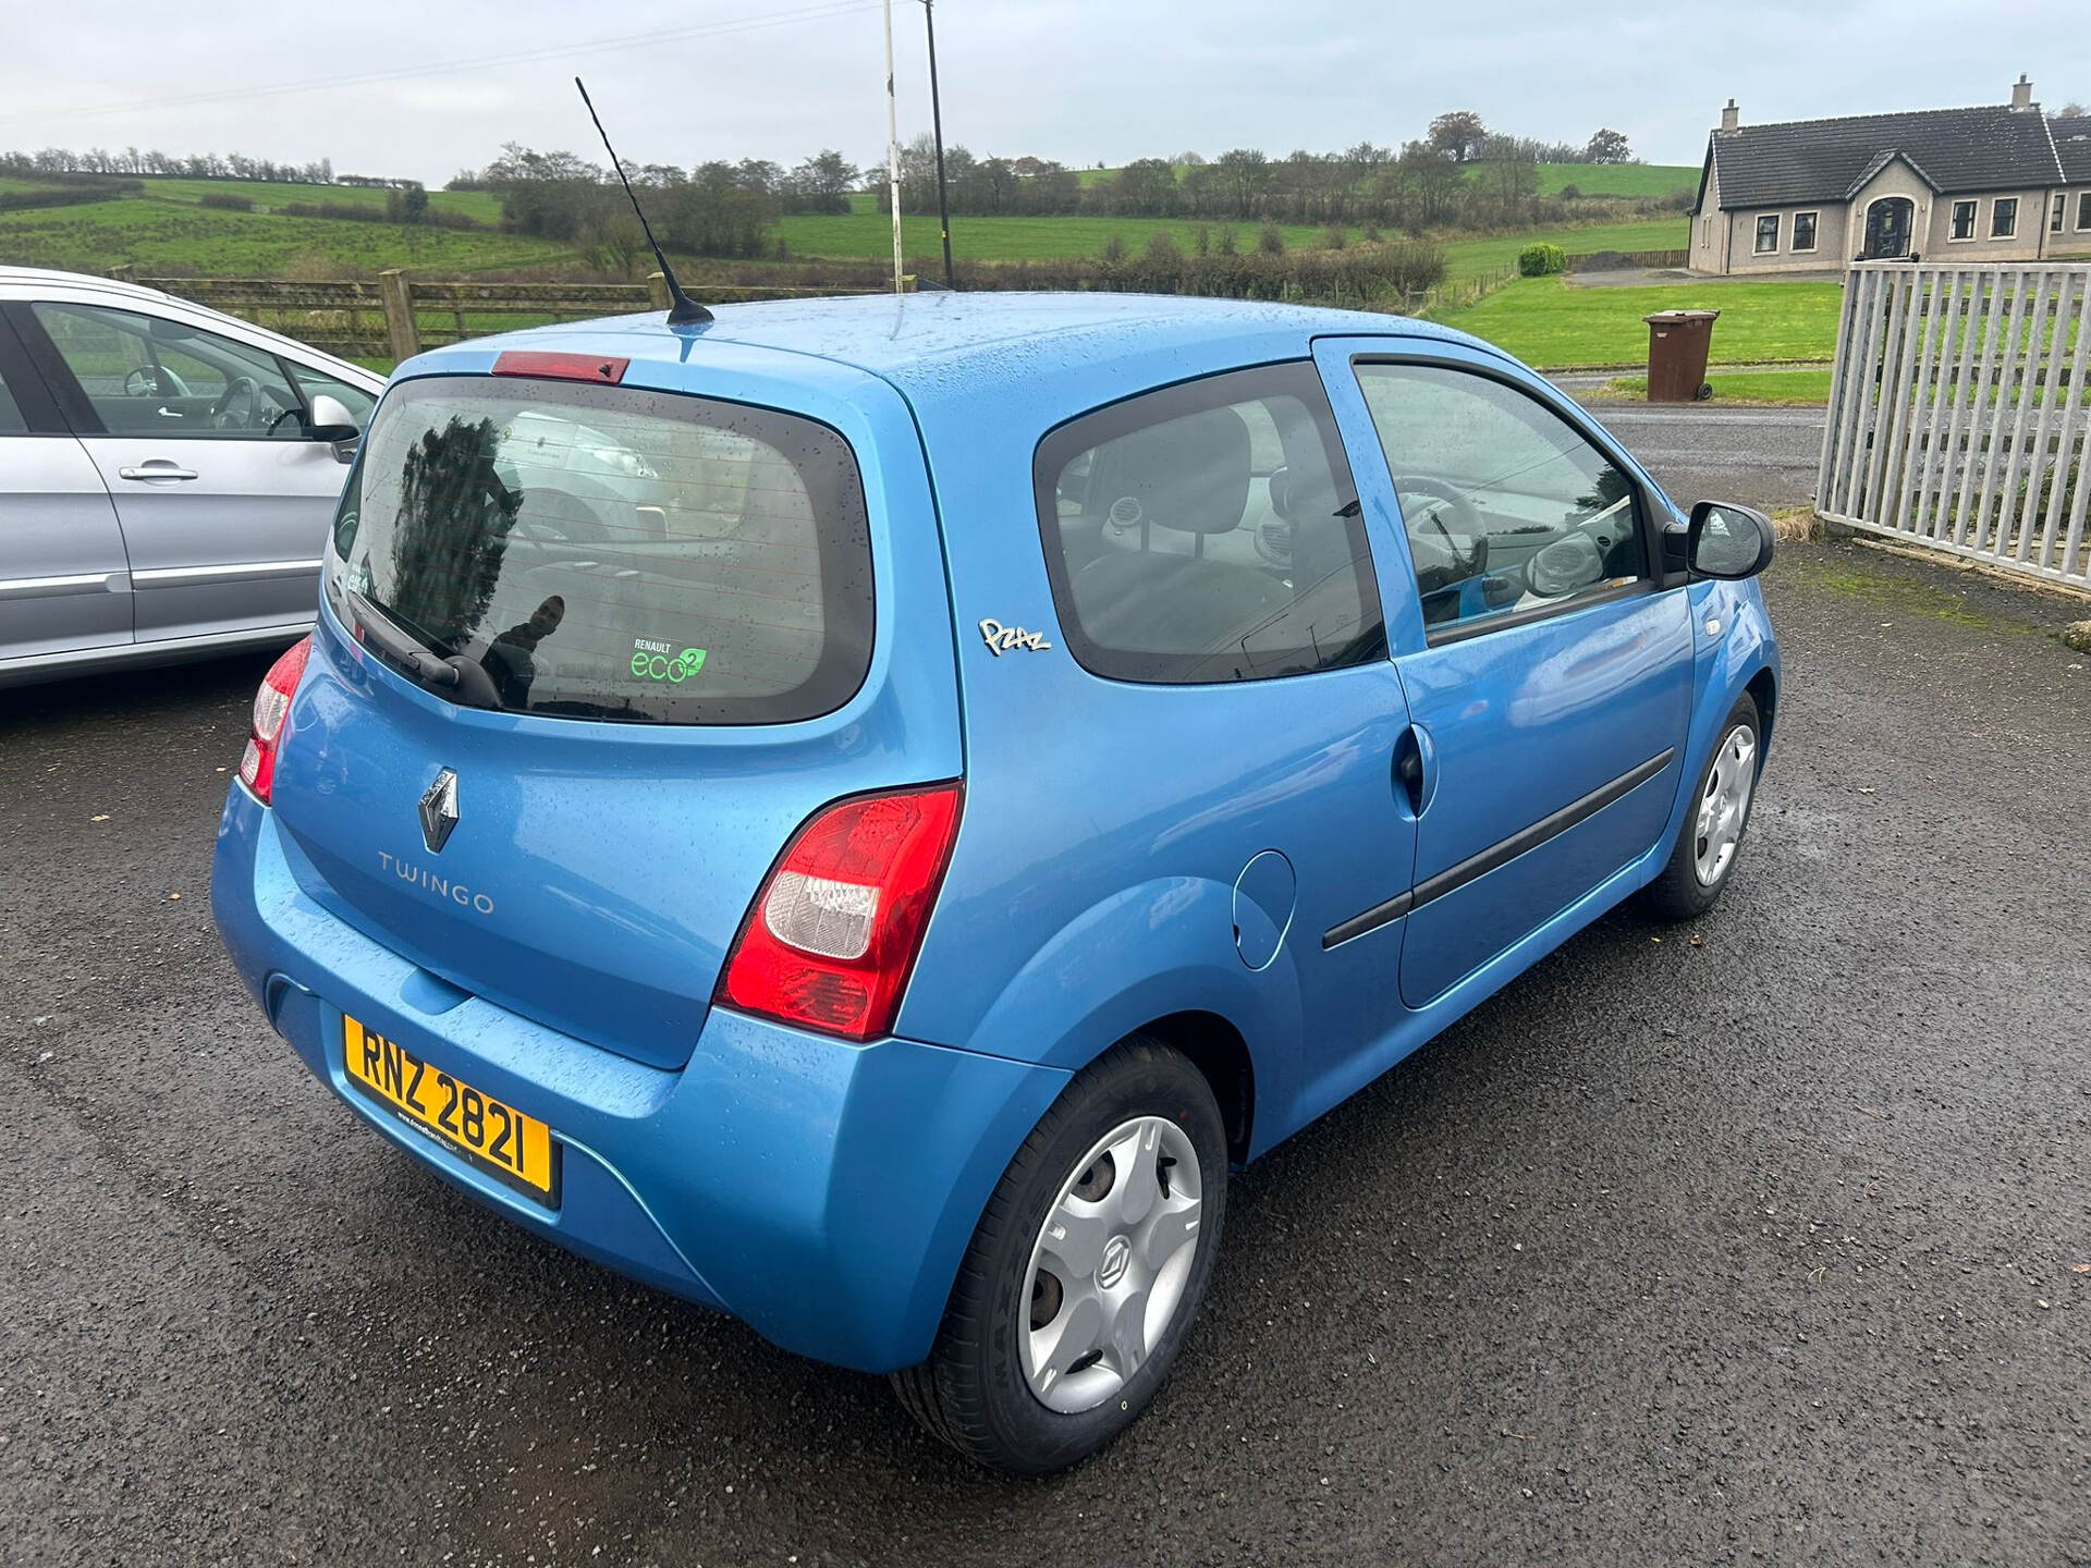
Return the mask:
POLYGON ((1037 449, 1069 652, 1127 682, 1244 682, 1380 659, 1357 491, 1311 364, 1169 387, 1037 449))

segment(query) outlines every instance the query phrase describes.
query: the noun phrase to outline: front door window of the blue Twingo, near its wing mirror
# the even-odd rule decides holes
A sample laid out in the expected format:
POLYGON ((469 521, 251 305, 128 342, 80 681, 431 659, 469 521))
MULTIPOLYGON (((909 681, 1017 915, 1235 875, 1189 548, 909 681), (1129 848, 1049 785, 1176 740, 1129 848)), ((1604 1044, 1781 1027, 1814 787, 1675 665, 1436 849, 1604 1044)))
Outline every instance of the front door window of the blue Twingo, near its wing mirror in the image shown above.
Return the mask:
POLYGON ((1416 562, 1424 625, 1564 604, 1648 573, 1633 481, 1491 376, 1359 364, 1416 562))

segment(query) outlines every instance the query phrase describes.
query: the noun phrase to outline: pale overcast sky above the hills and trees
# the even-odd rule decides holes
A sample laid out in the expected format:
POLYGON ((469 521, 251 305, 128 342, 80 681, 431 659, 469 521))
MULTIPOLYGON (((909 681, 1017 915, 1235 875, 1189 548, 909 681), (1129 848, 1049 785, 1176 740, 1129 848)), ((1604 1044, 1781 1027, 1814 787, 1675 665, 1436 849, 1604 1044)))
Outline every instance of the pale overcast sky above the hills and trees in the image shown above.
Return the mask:
MULTIPOLYGON (((2085 0, 941 0, 937 27, 945 138, 1071 165, 1399 144, 1455 107, 1698 163, 1729 96, 1756 121, 1855 115, 2003 102, 2030 71, 2049 107, 2091 100, 2085 0)), ((895 33, 905 140, 928 128, 918 0, 895 0, 895 33)), ((876 0, 0 0, 0 148, 330 157, 439 184, 506 140, 594 155, 575 71, 642 163, 884 146, 876 0)))

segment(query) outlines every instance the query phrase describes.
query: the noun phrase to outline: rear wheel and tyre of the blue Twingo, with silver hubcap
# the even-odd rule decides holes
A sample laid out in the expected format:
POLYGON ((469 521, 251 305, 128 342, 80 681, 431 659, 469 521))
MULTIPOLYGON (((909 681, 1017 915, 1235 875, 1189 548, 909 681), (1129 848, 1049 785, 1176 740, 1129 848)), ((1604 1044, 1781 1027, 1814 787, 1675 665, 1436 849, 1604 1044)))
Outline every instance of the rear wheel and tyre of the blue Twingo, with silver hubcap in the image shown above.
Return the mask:
POLYGON ((901 1405, 995 1470, 1087 1459, 1169 1376, 1225 1206, 1227 1133, 1204 1075, 1144 1035, 1115 1045, 1004 1171, 928 1361, 893 1374, 901 1405))

